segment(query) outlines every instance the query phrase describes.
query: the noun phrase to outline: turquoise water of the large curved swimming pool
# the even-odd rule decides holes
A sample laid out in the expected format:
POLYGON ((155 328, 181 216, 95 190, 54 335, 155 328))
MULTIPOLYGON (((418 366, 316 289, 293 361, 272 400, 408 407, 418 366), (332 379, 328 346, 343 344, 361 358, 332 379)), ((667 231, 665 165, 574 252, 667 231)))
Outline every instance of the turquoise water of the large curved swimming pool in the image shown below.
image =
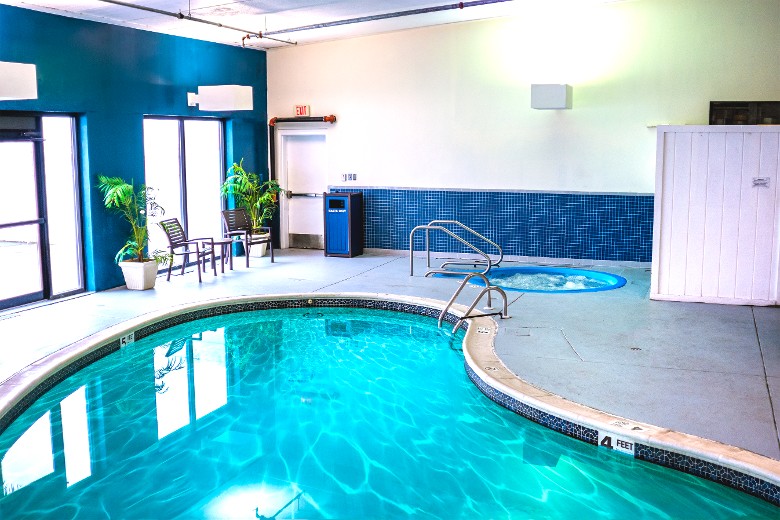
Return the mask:
POLYGON ((433 318, 365 309, 167 329, 0 435, 0 517, 777 517, 501 408, 467 378, 461 339, 433 318))

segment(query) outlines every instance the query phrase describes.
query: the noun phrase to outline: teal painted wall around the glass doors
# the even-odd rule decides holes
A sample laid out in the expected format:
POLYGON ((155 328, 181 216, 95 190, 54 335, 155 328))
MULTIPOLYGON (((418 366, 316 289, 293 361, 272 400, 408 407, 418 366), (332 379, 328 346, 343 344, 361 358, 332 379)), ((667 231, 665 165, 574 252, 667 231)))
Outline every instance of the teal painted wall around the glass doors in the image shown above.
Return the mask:
POLYGON ((263 51, 0 5, 0 61, 34 63, 38 71, 38 99, 0 101, 0 111, 79 116, 88 290, 124 283, 113 258, 126 225, 105 211, 95 184, 99 174, 143 182, 145 115, 225 118, 226 162, 244 158, 254 171, 268 171, 263 51), (251 85, 254 110, 201 112, 187 106, 187 92, 218 84, 251 85))

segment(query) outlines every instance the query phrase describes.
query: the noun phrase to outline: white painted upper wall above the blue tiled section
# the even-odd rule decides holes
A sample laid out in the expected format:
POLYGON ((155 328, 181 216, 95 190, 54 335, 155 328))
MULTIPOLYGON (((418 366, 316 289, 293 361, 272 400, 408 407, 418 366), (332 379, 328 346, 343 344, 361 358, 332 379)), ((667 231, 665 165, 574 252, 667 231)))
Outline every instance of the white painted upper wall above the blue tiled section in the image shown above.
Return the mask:
POLYGON ((338 117, 333 185, 652 193, 648 125, 706 124, 710 100, 780 100, 778 0, 518 6, 271 50, 269 117, 295 104, 338 117), (573 109, 532 110, 532 83, 571 84, 573 109))

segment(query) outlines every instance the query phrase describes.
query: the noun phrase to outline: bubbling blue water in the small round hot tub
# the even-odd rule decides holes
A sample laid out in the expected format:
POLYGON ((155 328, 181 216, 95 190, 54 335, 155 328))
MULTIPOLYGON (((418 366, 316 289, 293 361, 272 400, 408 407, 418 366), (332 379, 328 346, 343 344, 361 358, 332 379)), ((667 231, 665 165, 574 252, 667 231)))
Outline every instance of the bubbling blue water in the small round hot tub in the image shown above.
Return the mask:
MULTIPOLYGON (((626 279, 618 275, 566 267, 499 267, 487 276, 493 285, 523 292, 608 291, 626 284, 626 279)), ((478 278, 472 280, 479 283, 478 278)))

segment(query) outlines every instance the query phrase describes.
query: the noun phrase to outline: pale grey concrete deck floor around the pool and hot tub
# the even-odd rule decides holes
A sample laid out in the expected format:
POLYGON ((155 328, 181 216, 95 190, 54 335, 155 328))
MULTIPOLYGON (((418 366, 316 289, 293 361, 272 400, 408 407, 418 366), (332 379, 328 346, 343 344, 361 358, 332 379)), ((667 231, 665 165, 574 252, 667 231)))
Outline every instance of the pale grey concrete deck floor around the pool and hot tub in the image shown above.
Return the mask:
MULTIPOLYGON (((356 258, 284 250, 198 284, 191 270, 153 291, 115 289, 0 313, 0 381, 109 326, 183 303, 285 293, 391 293, 446 301, 458 279, 409 276, 407 254, 356 258)), ((438 264, 437 264, 438 265, 438 264)), ((506 265, 514 265, 507 262, 506 265)), ((598 269, 598 267, 596 267, 598 269)), ((510 292, 495 349, 529 383, 631 420, 780 460, 780 308, 648 299, 643 268, 601 268, 625 287, 581 294, 510 292)), ((479 289, 466 289, 468 305, 479 289)))

